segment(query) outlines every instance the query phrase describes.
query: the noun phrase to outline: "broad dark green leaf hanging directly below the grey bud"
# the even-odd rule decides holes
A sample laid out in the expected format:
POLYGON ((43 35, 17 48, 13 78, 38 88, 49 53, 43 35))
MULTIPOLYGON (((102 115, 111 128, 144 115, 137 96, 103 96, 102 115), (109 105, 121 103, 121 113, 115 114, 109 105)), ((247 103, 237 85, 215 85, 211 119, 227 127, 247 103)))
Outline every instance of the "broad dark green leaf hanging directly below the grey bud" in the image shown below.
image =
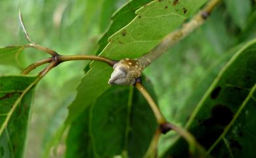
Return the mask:
MULTIPOLYGON (((152 91, 149 84, 146 88, 152 91)), ((139 91, 113 86, 72 123, 66 157, 103 158, 123 153, 141 158, 156 128, 154 113, 139 91)))

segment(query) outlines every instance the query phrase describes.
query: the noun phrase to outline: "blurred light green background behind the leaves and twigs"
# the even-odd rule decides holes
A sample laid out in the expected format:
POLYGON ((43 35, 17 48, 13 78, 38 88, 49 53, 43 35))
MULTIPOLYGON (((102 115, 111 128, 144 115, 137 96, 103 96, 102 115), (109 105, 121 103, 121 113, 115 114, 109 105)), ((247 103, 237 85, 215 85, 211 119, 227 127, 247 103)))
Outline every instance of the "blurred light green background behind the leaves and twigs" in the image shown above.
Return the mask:
MULTIPOLYGON (((139 0, 138 0, 139 1, 139 0)), ((0 46, 26 43, 18 22, 21 9, 32 41, 60 54, 95 54, 97 41, 106 31, 112 14, 125 0, 1 0, 0 46)), ((181 43, 145 69, 154 85, 163 114, 183 125, 193 107, 186 99, 193 94, 207 70, 232 47, 255 38, 256 1, 226 0, 209 20, 181 43), (188 111, 186 111, 188 109, 188 111), (184 112, 185 111, 185 112, 184 112)), ((0 66, 0 75, 20 73, 28 64, 47 57, 44 52, 26 49, 20 68, 0 66)), ((56 127, 64 121, 66 107, 75 96, 75 85, 89 62, 67 62, 54 68, 37 87, 29 132, 27 157, 41 157, 56 127)), ((40 68, 33 71, 37 73, 40 68)), ((164 136, 160 152, 169 144, 164 136)), ((57 155, 62 157, 62 142, 57 155)))

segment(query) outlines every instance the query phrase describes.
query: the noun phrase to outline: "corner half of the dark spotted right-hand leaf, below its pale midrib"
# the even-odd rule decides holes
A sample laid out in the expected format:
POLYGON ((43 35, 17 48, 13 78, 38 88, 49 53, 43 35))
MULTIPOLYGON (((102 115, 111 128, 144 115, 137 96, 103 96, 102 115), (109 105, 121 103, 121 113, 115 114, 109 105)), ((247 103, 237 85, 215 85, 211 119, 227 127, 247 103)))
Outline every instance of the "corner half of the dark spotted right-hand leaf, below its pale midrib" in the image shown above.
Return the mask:
POLYGON ((234 118, 224 129, 209 153, 214 157, 255 157, 256 85, 240 106, 234 118))

